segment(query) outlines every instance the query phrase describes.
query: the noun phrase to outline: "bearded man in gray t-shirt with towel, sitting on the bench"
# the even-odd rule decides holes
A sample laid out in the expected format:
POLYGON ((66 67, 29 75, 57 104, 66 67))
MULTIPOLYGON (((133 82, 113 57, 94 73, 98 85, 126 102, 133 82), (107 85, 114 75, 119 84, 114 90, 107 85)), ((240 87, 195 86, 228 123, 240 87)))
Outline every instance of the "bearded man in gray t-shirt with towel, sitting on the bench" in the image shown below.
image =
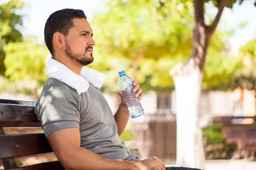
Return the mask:
MULTIPOLYGON (((96 44, 84 12, 75 9, 54 12, 45 24, 44 36, 52 54, 47 62, 53 64, 46 65, 50 78, 35 112, 63 167, 67 170, 166 170, 157 157, 140 160, 131 156, 121 141, 119 135, 129 119, 122 91, 118 92, 121 103, 113 116, 96 85, 102 79, 95 75, 87 75, 88 81, 83 78, 84 65, 93 62, 96 44)), ((133 91, 139 99, 144 96, 136 81, 133 91)))

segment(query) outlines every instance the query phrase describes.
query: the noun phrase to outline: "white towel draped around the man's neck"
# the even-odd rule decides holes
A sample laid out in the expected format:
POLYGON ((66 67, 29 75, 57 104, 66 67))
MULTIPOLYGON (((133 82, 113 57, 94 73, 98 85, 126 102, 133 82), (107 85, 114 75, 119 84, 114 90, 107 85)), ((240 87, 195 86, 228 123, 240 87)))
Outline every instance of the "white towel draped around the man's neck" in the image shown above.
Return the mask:
POLYGON ((89 82, 95 88, 100 89, 106 77, 105 74, 86 66, 81 69, 81 73, 78 75, 65 65, 52 59, 51 54, 48 54, 46 57, 45 74, 74 88, 79 95, 88 90, 89 82))

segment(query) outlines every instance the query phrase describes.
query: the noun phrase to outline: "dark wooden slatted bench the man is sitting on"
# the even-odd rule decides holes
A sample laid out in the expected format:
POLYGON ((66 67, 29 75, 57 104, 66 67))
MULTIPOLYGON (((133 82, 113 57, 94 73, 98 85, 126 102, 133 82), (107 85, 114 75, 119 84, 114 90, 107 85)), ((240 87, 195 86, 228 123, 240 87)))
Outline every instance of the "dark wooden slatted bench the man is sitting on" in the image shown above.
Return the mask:
POLYGON ((18 167, 18 158, 52 154, 44 133, 6 134, 4 127, 41 127, 36 102, 0 99, 0 160, 6 170, 63 170, 59 161, 18 167))

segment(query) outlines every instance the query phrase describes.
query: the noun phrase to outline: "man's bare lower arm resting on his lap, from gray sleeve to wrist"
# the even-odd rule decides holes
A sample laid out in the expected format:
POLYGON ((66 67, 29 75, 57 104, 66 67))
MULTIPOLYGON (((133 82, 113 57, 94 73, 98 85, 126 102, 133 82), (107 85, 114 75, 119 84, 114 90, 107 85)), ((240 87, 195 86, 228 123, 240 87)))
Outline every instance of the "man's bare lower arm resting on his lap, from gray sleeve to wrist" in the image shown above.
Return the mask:
POLYGON ((136 170, 142 164, 104 158, 80 147, 79 128, 58 130, 47 140, 65 170, 136 170))

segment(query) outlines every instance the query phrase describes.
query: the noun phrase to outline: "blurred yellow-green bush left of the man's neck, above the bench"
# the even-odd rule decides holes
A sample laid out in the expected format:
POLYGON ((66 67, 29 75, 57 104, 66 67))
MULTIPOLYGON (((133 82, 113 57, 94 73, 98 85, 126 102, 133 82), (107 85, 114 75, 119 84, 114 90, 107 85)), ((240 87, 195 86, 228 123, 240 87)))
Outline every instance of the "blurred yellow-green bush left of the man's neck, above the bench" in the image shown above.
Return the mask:
POLYGON ((38 45, 35 37, 27 37, 23 42, 10 42, 6 48, 5 76, 11 81, 30 77, 39 82, 46 80, 44 63, 49 53, 46 46, 38 45))

